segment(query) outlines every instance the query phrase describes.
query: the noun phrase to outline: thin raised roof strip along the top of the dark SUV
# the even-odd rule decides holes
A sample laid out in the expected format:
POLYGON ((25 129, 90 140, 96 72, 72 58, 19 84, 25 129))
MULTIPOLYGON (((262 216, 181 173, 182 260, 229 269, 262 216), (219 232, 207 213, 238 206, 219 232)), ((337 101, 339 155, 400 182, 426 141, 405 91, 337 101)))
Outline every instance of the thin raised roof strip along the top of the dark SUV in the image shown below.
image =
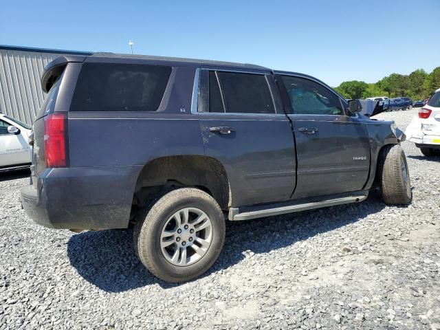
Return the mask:
POLYGON ((248 63, 233 63, 233 62, 223 62, 223 61, 210 61, 210 60, 199 60, 195 58, 179 58, 179 57, 167 57, 167 56, 151 56, 151 55, 133 55, 133 54, 115 54, 107 52, 94 53, 92 58, 124 58, 124 59, 137 59, 146 61, 164 61, 181 63, 186 65, 212 65, 219 67, 236 67, 243 69, 264 69, 270 70, 267 67, 262 67, 260 65, 248 64, 248 63))

